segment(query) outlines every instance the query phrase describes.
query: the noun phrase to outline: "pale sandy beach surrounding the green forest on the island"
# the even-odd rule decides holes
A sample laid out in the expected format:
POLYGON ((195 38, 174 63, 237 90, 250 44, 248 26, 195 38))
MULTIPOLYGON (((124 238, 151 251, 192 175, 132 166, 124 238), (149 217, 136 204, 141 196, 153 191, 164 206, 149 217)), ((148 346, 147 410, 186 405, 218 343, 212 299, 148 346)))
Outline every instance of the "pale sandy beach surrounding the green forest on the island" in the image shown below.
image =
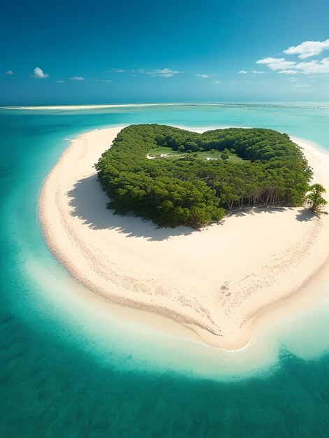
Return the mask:
MULTIPOLYGON (((115 216, 106 209, 94 163, 121 129, 74 139, 41 190, 45 241, 68 272, 92 292, 174 318, 227 349, 245 346, 256 317, 277 304, 296 311, 298 292, 308 293, 309 282, 328 269, 329 215, 316 218, 302 207, 253 209, 201 231, 115 216)), ((329 155, 293 141, 314 181, 329 191, 329 155)))

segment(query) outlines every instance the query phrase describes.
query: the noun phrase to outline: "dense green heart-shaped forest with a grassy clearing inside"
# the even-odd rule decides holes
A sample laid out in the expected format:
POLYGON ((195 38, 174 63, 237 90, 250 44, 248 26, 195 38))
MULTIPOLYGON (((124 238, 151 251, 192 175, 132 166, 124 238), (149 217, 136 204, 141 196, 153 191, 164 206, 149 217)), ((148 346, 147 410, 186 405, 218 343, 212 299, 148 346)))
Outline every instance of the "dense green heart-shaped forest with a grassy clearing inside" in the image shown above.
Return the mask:
POLYGON ((155 124, 122 129, 96 170, 116 213, 195 228, 236 207, 302 205, 312 177, 287 134, 256 128, 198 134, 155 124), (170 155, 152 154, 161 148, 170 155))

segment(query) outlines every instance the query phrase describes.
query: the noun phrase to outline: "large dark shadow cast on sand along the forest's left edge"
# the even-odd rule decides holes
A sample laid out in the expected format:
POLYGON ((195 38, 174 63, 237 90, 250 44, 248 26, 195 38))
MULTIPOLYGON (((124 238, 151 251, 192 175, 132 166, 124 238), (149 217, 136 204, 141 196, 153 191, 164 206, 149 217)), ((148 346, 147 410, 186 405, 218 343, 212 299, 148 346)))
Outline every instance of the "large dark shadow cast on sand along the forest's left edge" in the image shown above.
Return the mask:
POLYGON ((117 229, 127 237, 145 237, 151 241, 197 232, 189 227, 159 228, 151 220, 115 215, 106 208, 108 196, 103 192, 96 175, 77 181, 67 195, 71 198, 69 205, 73 207, 71 215, 80 218, 92 229, 117 229))

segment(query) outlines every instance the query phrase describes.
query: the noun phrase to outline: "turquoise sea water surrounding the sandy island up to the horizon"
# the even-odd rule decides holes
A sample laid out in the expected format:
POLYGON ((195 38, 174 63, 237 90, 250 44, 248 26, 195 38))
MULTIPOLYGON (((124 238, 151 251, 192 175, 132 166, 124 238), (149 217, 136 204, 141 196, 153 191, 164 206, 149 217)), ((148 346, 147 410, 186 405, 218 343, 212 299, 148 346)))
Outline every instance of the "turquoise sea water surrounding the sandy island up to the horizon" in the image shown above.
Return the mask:
POLYGON ((328 120, 315 104, 0 109, 0 437, 328 437, 328 302, 248 351, 168 339, 81 299, 36 213, 67 139, 94 128, 272 127, 329 150, 328 120))

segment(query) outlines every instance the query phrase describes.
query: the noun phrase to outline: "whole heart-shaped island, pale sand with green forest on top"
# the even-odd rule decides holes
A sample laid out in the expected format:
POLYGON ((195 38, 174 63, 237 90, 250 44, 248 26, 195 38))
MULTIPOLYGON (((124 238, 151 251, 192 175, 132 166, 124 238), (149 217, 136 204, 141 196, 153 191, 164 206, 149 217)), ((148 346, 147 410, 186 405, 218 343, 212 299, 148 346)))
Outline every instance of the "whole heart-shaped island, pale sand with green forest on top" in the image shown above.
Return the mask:
POLYGON ((90 290, 239 348, 328 260, 328 216, 303 206, 311 167, 329 185, 319 155, 272 129, 89 132, 43 185, 43 234, 90 290))

